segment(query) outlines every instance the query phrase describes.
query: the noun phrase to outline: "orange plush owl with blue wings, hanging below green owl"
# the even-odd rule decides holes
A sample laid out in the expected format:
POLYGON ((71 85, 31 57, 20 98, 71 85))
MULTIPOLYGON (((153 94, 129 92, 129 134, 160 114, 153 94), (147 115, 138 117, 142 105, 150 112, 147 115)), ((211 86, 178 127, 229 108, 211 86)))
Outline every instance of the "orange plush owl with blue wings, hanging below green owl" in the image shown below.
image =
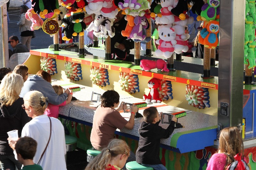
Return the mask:
MULTIPOLYGON (((200 32, 201 36, 199 43, 202 43, 206 48, 215 49, 219 44, 219 21, 210 21, 205 28, 200 32), (202 42, 204 40, 204 42, 202 42)), ((199 40, 199 38, 198 38, 199 40)))

